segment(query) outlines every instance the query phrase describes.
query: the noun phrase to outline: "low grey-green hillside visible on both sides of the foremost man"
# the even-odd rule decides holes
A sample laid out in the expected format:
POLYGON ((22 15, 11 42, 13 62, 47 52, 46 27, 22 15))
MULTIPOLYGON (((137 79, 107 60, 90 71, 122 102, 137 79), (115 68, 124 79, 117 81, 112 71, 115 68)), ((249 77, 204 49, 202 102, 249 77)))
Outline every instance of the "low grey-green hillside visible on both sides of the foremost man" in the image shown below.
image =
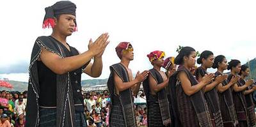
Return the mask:
MULTIPOLYGON (((81 84, 83 87, 95 86, 107 84, 108 78, 106 79, 90 79, 90 80, 82 80, 81 84)), ((28 89, 28 82, 19 82, 15 80, 8 80, 10 84, 12 84, 13 89, 8 89, 6 87, 0 87, 0 91, 25 91, 28 89)))

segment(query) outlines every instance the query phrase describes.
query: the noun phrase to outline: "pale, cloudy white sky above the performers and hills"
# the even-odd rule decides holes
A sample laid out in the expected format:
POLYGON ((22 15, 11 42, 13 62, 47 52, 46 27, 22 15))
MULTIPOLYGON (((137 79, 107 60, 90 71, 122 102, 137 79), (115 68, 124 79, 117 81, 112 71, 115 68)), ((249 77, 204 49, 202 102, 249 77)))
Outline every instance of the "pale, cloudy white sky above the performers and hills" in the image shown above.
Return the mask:
MULTIPOLYGON (((72 1, 77 5, 78 32, 68 43, 80 52, 87 50, 90 38, 109 33, 103 56, 103 73, 108 78, 109 66, 118 63, 115 47, 120 41, 134 46, 133 73, 148 70, 147 54, 163 50, 176 56, 179 45, 194 47, 199 52, 211 50, 228 60, 246 63, 255 58, 256 1, 72 1)), ((1 12, 0 78, 27 80, 26 71, 33 43, 38 36, 51 34, 42 29, 44 8, 56 1, 3 1, 1 12), (9 73, 9 74, 6 74, 9 73), (20 79, 22 78, 22 79, 20 79)), ((83 79, 90 78, 83 75, 83 79)))

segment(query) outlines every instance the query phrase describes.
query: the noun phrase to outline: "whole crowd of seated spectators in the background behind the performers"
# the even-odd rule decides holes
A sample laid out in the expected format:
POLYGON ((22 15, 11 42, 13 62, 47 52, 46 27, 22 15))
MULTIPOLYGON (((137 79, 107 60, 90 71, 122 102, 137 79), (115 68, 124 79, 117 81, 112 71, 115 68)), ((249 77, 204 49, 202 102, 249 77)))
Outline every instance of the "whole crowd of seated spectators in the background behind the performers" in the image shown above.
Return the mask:
MULTIPOLYGON (((1 91, 0 93, 0 127, 24 127, 26 123, 27 91, 1 91)), ((111 100, 109 92, 86 91, 83 93, 84 116, 88 127, 109 126, 109 108, 111 100)), ((136 100, 145 100, 145 94, 140 91, 136 100)), ((147 126, 147 107, 134 103, 135 119, 138 126, 147 126)))

